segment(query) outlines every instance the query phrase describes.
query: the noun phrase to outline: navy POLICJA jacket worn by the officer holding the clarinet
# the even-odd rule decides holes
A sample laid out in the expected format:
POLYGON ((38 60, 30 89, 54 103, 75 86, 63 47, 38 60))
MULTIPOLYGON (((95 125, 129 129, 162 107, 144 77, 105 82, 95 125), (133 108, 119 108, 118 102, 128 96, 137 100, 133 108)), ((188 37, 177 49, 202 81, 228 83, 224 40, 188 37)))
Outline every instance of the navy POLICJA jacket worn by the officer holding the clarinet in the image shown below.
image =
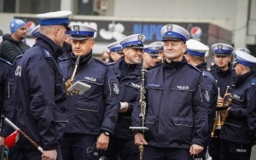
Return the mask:
MULTIPOLYGON (((189 149, 204 146, 207 137, 207 106, 203 106, 201 71, 186 62, 172 70, 163 63, 146 74, 147 112, 145 140, 149 146, 189 149), (168 73, 165 73, 168 72, 168 73)), ((132 126, 141 126, 139 107, 132 126)))

